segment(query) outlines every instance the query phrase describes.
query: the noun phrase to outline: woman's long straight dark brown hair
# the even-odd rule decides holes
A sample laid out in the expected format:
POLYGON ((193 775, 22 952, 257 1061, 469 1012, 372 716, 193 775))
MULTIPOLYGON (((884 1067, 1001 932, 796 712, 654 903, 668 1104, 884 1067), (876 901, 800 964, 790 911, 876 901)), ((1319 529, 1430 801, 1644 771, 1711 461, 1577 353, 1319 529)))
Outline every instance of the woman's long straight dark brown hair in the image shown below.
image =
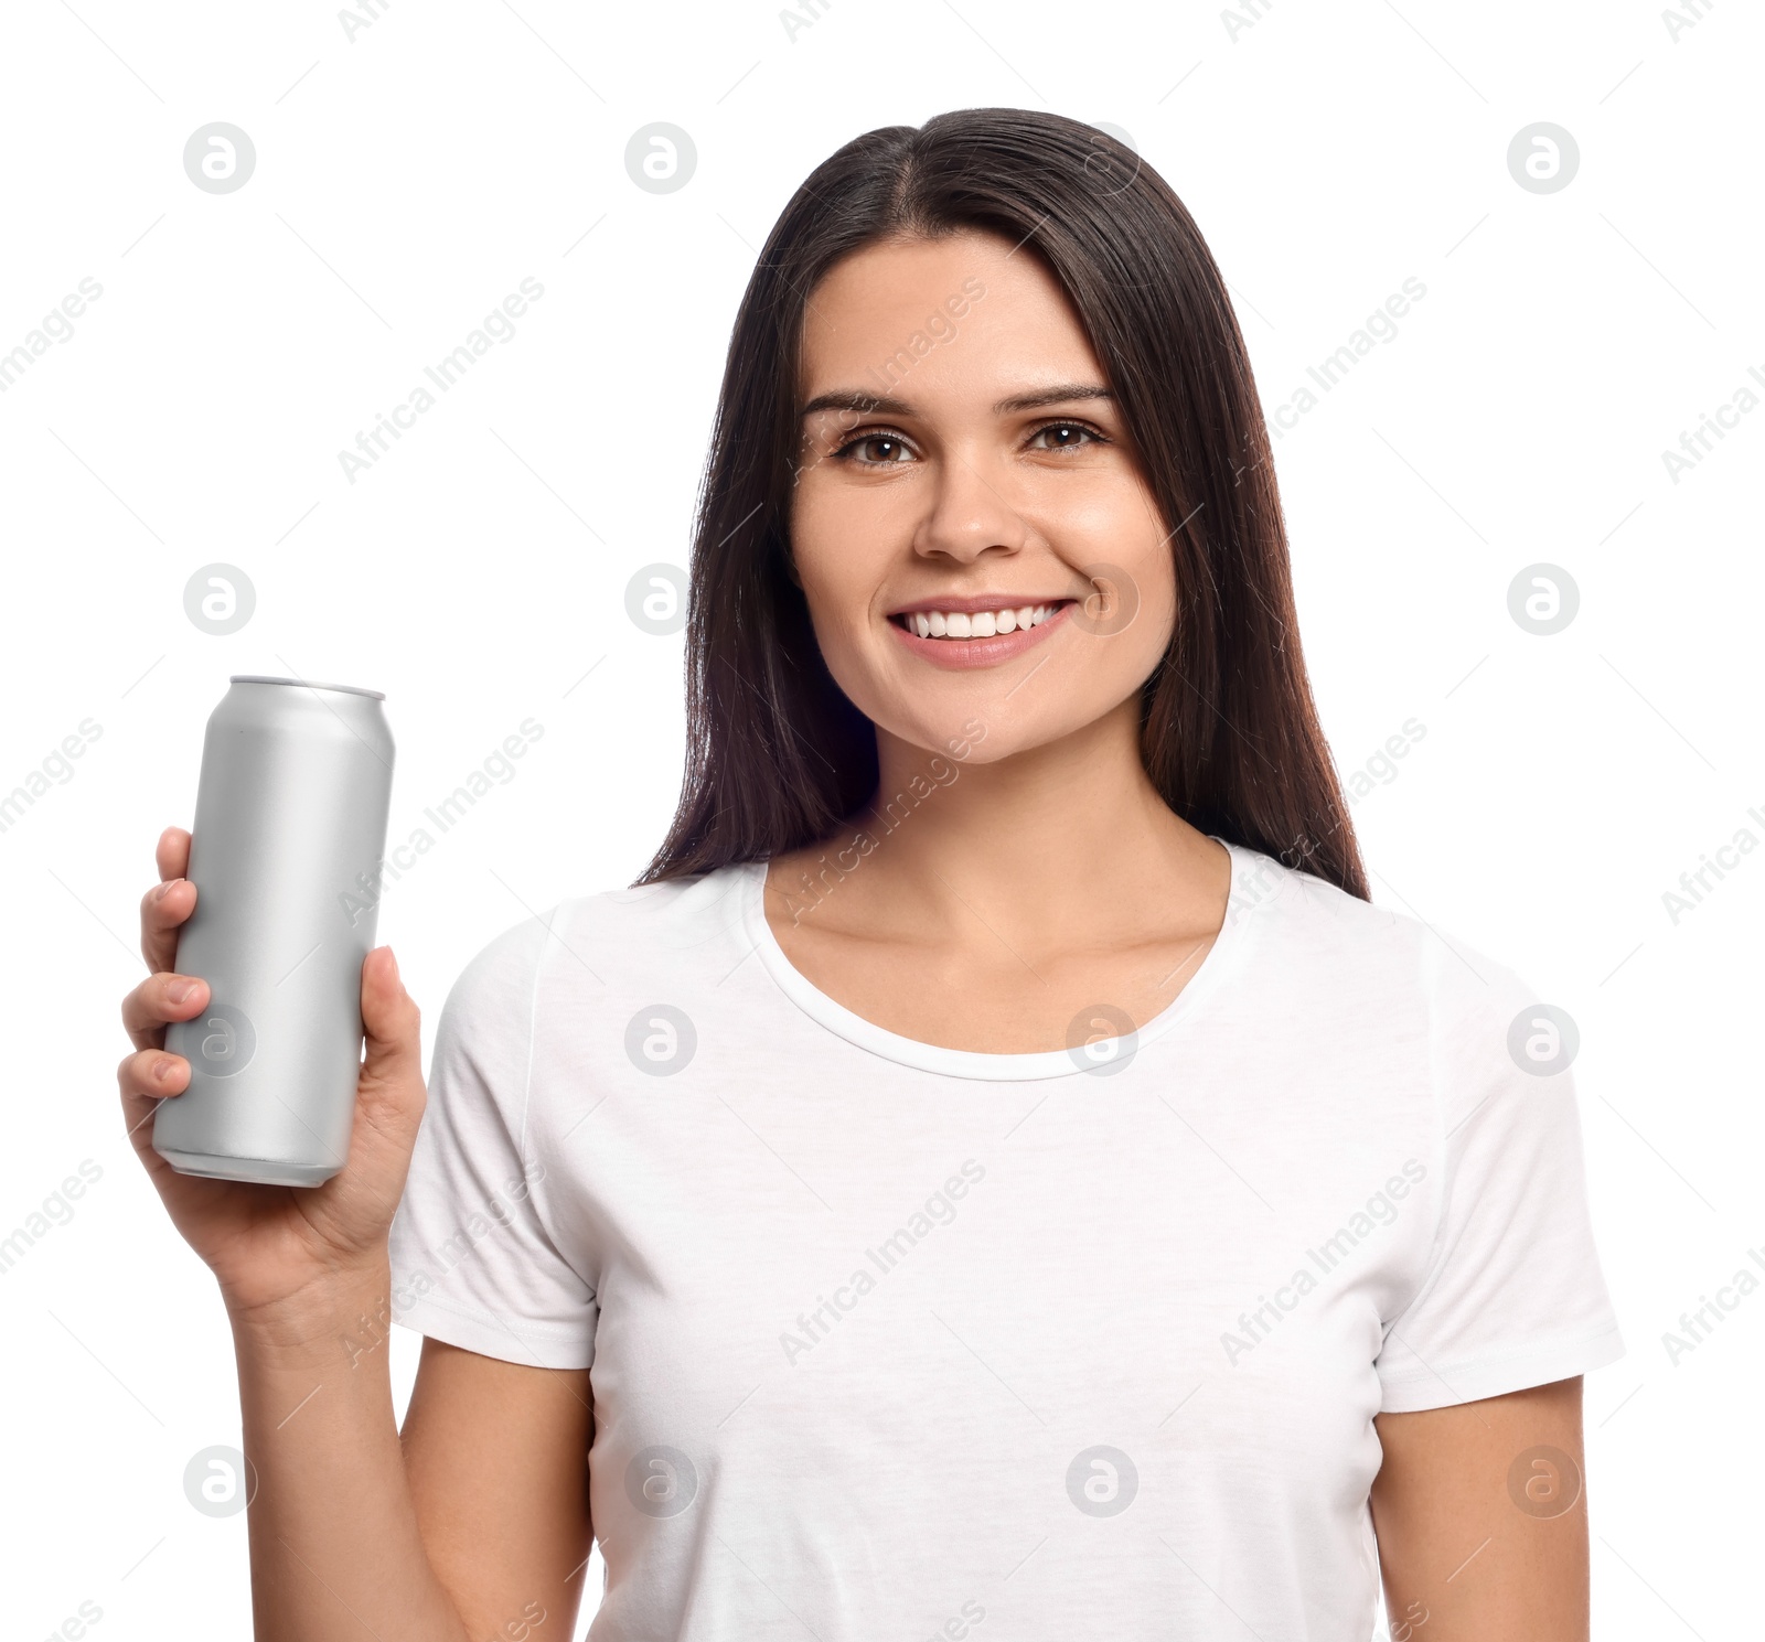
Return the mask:
POLYGON ((824 840, 877 787, 875 730, 828 674, 787 520, 808 295, 886 238, 990 231, 1066 289, 1172 527, 1177 617, 1140 750, 1204 832, 1368 898, 1299 654, 1269 432, 1225 282, 1183 201, 1077 120, 960 109, 865 132, 796 190, 729 340, 687 614, 687 772, 641 884, 824 840))

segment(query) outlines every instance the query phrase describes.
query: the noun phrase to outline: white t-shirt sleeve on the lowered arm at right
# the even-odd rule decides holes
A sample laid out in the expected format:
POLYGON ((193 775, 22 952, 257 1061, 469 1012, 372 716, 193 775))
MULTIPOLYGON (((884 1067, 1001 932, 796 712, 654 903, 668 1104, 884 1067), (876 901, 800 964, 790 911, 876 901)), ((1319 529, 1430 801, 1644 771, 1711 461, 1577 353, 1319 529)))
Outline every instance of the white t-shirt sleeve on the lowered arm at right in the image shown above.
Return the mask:
POLYGON ((1431 945, 1438 1219, 1421 1284, 1386 1319, 1382 1413, 1500 1397, 1624 1355, 1587 1201, 1576 1025, 1509 970, 1476 956, 1453 974, 1460 959, 1431 945))

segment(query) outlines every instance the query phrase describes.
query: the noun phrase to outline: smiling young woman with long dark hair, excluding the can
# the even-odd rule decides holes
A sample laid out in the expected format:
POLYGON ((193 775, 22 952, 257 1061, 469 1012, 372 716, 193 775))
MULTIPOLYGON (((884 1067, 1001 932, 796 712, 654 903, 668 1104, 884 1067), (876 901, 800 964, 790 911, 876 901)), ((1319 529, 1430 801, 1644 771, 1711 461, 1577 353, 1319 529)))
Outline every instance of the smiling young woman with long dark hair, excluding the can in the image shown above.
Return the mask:
POLYGON ((981 109, 805 182, 687 656, 641 884, 485 947, 427 1108, 372 952, 318 1190, 150 1148, 207 1000, 161 838, 120 1081, 233 1319, 259 1638, 563 1638, 591 1536, 605 1642, 1364 1642, 1380 1575, 1398 1642, 1585 1637, 1622 1347, 1569 1078, 1509 970, 1366 899, 1244 344, 1149 168, 981 109))

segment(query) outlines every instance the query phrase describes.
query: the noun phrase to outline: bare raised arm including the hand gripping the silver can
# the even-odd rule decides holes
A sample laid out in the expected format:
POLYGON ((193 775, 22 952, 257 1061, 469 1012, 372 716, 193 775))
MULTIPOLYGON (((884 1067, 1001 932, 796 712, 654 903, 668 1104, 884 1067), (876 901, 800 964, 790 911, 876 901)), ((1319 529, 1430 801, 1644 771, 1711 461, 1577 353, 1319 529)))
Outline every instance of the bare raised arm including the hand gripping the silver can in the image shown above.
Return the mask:
POLYGON ((148 979, 124 998, 129 1139, 173 1224, 214 1270, 238 1360, 258 1642, 567 1638, 588 1556, 588 1370, 427 1342, 401 1443, 387 1365, 387 1235, 425 1092, 415 1000, 376 949, 349 1157, 321 1187, 178 1175, 154 1113, 189 1086, 166 1025, 208 986, 175 974, 196 907, 191 834, 159 840, 141 899, 148 979), (547 1628, 549 1626, 549 1628, 547 1628))

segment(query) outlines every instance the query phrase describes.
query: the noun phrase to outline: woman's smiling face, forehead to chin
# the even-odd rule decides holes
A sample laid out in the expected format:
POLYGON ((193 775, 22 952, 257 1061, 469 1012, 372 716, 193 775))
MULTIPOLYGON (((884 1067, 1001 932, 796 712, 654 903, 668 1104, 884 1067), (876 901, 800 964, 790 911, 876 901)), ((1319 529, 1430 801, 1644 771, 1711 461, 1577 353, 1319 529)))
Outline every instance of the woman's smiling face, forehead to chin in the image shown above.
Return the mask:
POLYGON ((992 762, 1133 697, 1170 637, 1168 526, 1047 268, 962 233, 858 250, 805 319, 791 543, 881 730, 992 762))

